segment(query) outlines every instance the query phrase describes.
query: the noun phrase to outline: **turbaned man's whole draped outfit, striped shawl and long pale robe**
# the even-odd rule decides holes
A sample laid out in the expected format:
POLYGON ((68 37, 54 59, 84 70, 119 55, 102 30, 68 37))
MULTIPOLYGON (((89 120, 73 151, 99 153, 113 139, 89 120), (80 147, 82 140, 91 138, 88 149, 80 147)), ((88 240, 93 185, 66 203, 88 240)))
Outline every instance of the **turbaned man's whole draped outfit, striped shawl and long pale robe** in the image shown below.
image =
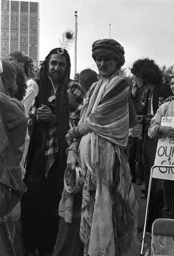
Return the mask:
POLYGON ((86 121, 93 131, 79 145, 84 175, 80 224, 84 256, 126 255, 137 242, 137 203, 121 150, 128 136, 127 96, 123 78, 100 80, 91 88, 89 103, 81 112, 79 124, 86 121))

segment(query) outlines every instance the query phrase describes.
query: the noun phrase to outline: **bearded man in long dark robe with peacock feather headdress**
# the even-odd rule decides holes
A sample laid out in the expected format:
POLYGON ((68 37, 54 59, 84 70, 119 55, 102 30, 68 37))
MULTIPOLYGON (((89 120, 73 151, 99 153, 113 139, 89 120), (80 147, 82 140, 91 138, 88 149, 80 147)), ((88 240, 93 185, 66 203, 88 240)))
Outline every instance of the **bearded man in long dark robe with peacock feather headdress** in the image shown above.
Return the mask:
POLYGON ((66 48, 72 40, 69 30, 62 36, 61 47, 53 49, 42 63, 40 89, 29 113, 31 139, 24 178, 28 191, 21 202, 27 255, 51 253, 56 241, 67 166, 66 134, 78 123, 84 98, 80 84, 70 79, 66 48))

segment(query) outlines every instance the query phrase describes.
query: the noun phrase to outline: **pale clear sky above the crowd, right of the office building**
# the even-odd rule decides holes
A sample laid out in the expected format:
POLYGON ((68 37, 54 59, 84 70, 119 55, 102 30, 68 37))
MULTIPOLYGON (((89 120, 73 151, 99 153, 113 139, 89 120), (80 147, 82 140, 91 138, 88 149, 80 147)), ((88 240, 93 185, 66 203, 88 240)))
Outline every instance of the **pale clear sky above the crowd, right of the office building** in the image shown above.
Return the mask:
MULTIPOLYGON (((75 31, 77 11, 77 72, 91 68, 92 44, 117 40, 125 51, 127 74, 135 60, 148 57, 161 67, 174 64, 174 0, 40 0, 40 60, 59 47, 64 31, 75 31), (111 26, 110 26, 111 24, 111 26)), ((74 45, 68 51, 71 78, 75 72, 74 45)))

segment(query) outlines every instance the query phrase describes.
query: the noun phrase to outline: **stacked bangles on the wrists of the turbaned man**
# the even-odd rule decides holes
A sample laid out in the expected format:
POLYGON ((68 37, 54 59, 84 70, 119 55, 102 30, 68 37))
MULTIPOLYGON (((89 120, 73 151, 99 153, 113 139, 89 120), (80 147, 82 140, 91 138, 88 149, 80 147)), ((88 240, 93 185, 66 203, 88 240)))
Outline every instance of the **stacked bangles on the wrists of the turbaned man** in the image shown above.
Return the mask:
MULTIPOLYGON (((73 142, 80 142, 82 135, 79 133, 78 131, 78 126, 74 126, 72 127, 69 131, 68 131, 68 136, 67 138, 70 140, 70 144, 72 144, 73 142)), ((75 148, 74 146, 70 146, 67 148, 66 150, 66 154, 68 155, 69 150, 73 150, 75 153, 78 154, 78 150, 77 148, 75 148)))

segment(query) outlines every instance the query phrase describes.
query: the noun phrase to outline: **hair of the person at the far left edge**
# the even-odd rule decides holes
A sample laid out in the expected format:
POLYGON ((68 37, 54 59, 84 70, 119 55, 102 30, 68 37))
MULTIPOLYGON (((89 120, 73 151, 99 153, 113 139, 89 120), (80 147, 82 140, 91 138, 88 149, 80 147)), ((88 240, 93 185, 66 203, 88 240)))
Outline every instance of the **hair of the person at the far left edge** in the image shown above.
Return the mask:
POLYGON ((1 58, 1 61, 3 65, 3 73, 1 73, 1 79, 3 82, 5 93, 9 95, 14 95, 16 92, 16 87, 14 84, 16 80, 15 68, 7 57, 1 58))

